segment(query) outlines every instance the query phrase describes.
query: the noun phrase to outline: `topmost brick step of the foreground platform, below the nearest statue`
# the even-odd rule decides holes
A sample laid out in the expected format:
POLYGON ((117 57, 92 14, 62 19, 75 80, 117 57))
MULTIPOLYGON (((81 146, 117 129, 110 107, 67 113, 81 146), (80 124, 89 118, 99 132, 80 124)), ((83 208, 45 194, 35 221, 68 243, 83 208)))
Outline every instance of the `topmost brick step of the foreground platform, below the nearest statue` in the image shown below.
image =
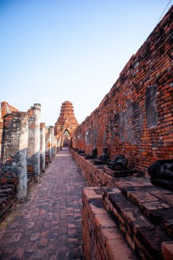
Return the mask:
POLYGON ((124 187, 122 193, 173 239, 173 192, 161 187, 124 187))

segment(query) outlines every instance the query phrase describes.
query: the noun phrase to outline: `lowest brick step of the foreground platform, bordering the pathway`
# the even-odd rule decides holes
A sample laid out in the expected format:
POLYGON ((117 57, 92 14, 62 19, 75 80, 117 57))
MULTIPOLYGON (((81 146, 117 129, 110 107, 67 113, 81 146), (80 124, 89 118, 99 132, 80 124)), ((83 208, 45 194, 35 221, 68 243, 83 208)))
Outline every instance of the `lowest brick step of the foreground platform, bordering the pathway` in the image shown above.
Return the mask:
POLYGON ((83 249, 90 259, 138 259, 103 205, 103 187, 83 189, 83 249))

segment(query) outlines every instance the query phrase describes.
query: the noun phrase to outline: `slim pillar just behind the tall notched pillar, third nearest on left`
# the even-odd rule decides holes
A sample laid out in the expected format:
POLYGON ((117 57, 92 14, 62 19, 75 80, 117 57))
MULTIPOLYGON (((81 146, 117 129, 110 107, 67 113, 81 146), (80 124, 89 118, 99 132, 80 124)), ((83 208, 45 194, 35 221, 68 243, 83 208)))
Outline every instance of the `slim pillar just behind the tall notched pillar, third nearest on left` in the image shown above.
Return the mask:
POLYGON ((40 123, 40 170, 44 172, 45 170, 45 124, 40 123))

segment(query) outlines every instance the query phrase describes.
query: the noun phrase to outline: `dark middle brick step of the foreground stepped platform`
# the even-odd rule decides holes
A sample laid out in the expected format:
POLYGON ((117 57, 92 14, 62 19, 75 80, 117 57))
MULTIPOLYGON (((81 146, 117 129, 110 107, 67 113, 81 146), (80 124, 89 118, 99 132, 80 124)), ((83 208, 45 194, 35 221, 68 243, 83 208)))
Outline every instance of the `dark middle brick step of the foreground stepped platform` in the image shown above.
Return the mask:
POLYGON ((162 259, 161 244, 171 238, 142 213, 138 205, 117 188, 104 188, 103 203, 126 237, 127 242, 142 259, 162 259))

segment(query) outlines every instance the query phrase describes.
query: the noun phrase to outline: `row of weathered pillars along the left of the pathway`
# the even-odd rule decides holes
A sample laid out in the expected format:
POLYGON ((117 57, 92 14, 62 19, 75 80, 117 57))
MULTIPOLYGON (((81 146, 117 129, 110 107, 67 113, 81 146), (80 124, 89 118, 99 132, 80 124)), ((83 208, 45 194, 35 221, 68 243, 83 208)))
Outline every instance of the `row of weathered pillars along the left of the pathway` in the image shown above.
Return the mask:
POLYGON ((40 123, 40 104, 27 112, 12 112, 3 117, 0 177, 17 180, 18 199, 27 194, 28 172, 39 181, 40 170, 46 167, 57 151, 54 127, 40 123))

